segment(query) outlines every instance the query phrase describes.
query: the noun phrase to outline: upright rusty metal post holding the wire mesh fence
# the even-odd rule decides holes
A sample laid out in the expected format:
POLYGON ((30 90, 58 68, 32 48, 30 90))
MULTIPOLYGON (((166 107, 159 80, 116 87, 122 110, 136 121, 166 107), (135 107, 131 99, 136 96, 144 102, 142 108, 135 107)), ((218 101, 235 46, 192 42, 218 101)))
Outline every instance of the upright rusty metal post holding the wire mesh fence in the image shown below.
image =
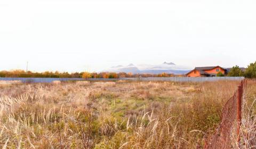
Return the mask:
POLYGON ((243 93, 243 81, 237 86, 237 144, 239 146, 241 135, 240 135, 240 127, 242 123, 242 93, 243 93))

